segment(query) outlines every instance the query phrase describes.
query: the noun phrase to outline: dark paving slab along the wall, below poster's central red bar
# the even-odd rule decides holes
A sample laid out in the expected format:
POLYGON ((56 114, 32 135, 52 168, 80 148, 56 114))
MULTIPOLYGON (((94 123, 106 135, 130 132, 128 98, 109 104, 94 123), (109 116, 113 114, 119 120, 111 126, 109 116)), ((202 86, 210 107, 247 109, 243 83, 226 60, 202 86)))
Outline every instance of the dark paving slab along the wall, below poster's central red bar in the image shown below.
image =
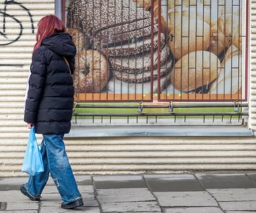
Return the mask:
POLYGON ((152 191, 204 191, 193 175, 144 175, 152 191))

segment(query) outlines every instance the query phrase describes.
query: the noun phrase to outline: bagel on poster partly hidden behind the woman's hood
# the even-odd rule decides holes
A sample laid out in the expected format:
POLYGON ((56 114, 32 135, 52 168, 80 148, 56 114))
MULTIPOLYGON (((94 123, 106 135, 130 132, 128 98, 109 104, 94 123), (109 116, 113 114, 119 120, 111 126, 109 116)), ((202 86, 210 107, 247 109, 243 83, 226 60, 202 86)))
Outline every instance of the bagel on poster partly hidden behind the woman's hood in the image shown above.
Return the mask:
POLYGON ((66 32, 72 36, 72 40, 75 43, 77 50, 88 49, 88 44, 86 42, 86 36, 79 29, 66 28, 66 32))

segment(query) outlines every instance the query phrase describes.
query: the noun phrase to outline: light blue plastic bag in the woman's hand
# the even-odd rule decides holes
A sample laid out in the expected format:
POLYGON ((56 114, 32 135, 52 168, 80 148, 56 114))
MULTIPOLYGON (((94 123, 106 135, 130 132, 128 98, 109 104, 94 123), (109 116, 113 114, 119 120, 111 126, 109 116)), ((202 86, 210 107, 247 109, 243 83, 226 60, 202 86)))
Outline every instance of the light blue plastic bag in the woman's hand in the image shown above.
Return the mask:
POLYGON ((22 165, 22 171, 32 176, 36 175, 36 173, 44 171, 42 155, 36 141, 36 131, 34 127, 31 128, 28 137, 28 144, 22 165))

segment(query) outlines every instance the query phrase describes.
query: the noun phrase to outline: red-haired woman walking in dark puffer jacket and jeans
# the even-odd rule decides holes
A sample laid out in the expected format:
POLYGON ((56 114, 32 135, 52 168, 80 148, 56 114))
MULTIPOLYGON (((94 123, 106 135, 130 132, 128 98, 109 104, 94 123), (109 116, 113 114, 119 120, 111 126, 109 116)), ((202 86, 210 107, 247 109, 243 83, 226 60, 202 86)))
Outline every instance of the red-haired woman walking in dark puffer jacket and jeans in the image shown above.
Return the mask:
POLYGON ((30 200, 40 200, 49 179, 55 182, 63 203, 61 208, 82 206, 82 196, 65 151, 63 136, 71 128, 73 79, 76 48, 65 26, 55 15, 38 22, 24 121, 43 135, 41 144, 44 172, 30 176, 20 191, 30 200))

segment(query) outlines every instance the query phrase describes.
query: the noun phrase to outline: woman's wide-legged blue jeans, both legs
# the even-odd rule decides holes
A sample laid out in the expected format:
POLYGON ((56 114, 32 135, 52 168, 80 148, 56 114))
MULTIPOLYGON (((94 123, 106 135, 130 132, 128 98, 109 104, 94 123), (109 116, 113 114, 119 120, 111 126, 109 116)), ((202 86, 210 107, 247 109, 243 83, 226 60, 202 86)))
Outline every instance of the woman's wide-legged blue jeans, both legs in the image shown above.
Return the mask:
POLYGON ((82 196, 78 191, 75 177, 69 164, 63 136, 64 134, 43 135, 40 152, 44 163, 44 172, 34 176, 30 175, 25 187, 32 196, 40 197, 49 179, 49 173, 51 173, 61 199, 64 204, 69 204, 75 200, 82 199, 82 196))

